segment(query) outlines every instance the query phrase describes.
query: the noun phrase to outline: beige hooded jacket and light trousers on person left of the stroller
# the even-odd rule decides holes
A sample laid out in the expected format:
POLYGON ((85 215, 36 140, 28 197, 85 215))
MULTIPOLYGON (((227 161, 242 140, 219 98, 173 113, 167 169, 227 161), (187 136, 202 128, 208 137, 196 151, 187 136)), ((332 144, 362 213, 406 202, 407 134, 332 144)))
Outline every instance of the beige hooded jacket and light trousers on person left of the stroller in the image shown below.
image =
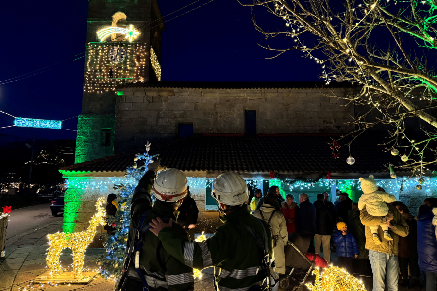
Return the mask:
POLYGON ((275 253, 275 265, 276 265, 275 271, 279 274, 284 274, 285 267, 286 267, 284 246, 286 246, 288 242, 287 224, 284 215, 282 215, 281 211, 276 210, 275 213, 273 213, 274 210, 275 208, 272 205, 264 203, 263 205, 261 205, 260 209, 253 212, 253 216, 261 220, 263 220, 264 217, 264 221, 266 223, 268 223, 271 216, 271 220, 269 223, 271 227, 271 236, 274 242, 276 242, 276 245, 273 244, 275 245, 273 248, 273 252, 275 253), (263 214, 262 217, 260 212, 262 212, 263 214))

